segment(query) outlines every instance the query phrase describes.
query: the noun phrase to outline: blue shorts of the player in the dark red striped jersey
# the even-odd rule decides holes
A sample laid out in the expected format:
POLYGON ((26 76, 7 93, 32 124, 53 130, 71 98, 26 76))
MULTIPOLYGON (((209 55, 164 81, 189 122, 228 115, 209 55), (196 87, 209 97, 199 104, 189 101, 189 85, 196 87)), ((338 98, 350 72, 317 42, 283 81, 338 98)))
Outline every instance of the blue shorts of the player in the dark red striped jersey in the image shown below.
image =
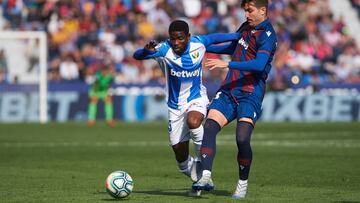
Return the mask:
POLYGON ((224 92, 217 92, 216 96, 211 101, 210 109, 220 111, 230 123, 235 118, 250 118, 255 122, 261 116, 261 100, 251 93, 242 93, 241 95, 232 98, 224 92))

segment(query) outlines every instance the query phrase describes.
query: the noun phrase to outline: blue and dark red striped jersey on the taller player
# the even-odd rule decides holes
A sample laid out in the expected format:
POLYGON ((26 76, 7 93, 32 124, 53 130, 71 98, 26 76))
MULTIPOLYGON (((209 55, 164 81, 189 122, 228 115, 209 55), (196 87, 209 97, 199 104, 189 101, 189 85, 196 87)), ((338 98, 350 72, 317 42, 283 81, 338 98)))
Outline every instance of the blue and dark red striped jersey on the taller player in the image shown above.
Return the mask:
POLYGON ((268 19, 255 28, 245 22, 238 32, 240 37, 237 44, 230 46, 233 49, 232 60, 221 90, 235 99, 240 92, 246 92, 253 93, 262 100, 266 89, 265 81, 276 51, 276 33, 268 19))

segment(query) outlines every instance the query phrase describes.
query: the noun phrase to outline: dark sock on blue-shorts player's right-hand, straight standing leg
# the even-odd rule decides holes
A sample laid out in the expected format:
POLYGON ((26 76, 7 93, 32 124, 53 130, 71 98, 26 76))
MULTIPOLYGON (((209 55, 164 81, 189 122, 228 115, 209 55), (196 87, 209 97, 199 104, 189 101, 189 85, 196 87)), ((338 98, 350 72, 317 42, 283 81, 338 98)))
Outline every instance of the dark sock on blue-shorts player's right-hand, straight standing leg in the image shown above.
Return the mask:
POLYGON ((237 161, 240 180, 247 180, 249 177, 252 161, 250 138, 253 129, 254 126, 252 124, 243 121, 238 122, 236 126, 237 161))

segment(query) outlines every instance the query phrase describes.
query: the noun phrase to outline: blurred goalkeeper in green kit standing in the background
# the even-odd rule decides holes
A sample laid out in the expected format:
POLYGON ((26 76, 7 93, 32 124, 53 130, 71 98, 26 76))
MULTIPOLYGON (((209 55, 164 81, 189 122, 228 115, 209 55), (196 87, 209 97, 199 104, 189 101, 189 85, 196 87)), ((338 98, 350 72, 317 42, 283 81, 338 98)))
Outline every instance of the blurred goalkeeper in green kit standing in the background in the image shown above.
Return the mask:
POLYGON ((112 85, 114 77, 110 66, 105 65, 97 71, 94 79, 89 90, 88 125, 93 126, 95 124, 97 103, 99 100, 103 100, 106 123, 114 127, 112 96, 109 94, 109 88, 112 85))

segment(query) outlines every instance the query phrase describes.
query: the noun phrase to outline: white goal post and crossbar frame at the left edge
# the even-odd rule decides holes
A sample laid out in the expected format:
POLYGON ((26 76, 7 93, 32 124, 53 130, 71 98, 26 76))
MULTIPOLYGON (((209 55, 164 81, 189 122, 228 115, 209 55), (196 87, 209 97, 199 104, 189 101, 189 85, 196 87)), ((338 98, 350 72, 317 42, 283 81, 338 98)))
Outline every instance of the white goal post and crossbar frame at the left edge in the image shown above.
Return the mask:
MULTIPOLYGON (((38 40, 38 50, 30 50, 38 51, 38 77, 37 81, 20 81, 20 83, 29 84, 29 83, 37 83, 39 85, 39 121, 40 123, 46 123, 48 121, 48 103, 47 103, 47 36, 44 31, 0 31, 0 40, 2 41, 0 44, 1 49, 12 49, 14 53, 10 52, 10 54, 15 55, 15 62, 13 63, 15 68, 17 68, 19 60, 16 61, 16 48, 7 47, 6 40, 38 40)), ((11 43, 10 43, 11 44, 11 43)), ((16 45, 12 45, 16 47, 16 45)), ((30 48, 31 47, 26 47, 30 48)), ((11 66, 11 65, 10 65, 11 66)), ((9 67, 12 68, 12 67, 9 67)))

